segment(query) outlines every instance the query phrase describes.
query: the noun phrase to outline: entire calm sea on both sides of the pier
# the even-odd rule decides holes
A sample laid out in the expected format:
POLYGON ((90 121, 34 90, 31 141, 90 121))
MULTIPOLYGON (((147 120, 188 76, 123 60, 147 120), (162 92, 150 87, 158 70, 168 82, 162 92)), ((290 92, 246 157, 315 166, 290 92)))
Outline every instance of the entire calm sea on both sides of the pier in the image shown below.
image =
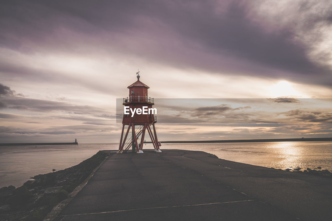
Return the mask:
MULTIPOLYGON (((0 187, 20 187, 31 177, 79 164, 99 150, 117 150, 117 143, 0 146, 0 187)), ((145 144, 144 149, 153 149, 145 144)), ((162 143, 167 149, 200 150, 225 160, 276 169, 321 167, 332 171, 332 142, 162 143)), ((157 154, 157 153, 156 153, 157 154)))

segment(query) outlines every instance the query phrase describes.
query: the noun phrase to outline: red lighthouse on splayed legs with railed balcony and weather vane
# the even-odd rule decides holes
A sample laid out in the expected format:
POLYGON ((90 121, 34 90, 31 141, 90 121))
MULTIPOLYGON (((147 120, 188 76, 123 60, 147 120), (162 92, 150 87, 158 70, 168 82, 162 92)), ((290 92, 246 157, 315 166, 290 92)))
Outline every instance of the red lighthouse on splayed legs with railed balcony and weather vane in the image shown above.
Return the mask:
MULTIPOLYGON (((139 74, 139 72, 136 74, 139 74)), ((123 126, 118 153, 126 152, 130 147, 132 147, 132 152, 143 153, 145 130, 147 130, 151 138, 154 151, 161 152, 159 149, 160 142, 158 142, 156 128, 154 126, 154 124, 157 123, 157 118, 153 115, 153 113, 156 113, 156 109, 152 108, 152 105, 154 105, 153 98, 148 97, 147 89, 149 87, 140 82, 139 77, 140 76, 137 75, 137 81, 127 87, 129 88, 129 96, 124 98, 123 101, 123 105, 125 106, 124 110, 127 110, 127 112, 124 111, 122 120, 123 126), (133 110, 137 111, 135 112, 133 110), (126 125, 128 125, 128 128, 124 135, 124 126, 126 125), (153 127, 153 133, 151 125, 153 127), (127 138, 130 128, 132 136, 127 138), (140 142, 138 142, 139 139, 140 142)))

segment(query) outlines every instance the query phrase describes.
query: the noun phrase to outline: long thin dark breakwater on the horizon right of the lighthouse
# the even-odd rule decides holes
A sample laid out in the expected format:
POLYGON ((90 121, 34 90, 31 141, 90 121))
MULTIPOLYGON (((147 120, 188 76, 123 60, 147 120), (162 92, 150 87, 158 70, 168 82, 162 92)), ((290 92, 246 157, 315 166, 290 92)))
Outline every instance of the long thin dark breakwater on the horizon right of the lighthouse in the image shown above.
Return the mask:
MULTIPOLYGON (((283 139, 242 139, 242 140, 188 140, 161 141, 161 143, 247 143, 247 142, 285 142, 285 141, 332 141, 332 138, 283 138, 283 139)), ((151 141, 145 142, 151 143, 151 141)))

